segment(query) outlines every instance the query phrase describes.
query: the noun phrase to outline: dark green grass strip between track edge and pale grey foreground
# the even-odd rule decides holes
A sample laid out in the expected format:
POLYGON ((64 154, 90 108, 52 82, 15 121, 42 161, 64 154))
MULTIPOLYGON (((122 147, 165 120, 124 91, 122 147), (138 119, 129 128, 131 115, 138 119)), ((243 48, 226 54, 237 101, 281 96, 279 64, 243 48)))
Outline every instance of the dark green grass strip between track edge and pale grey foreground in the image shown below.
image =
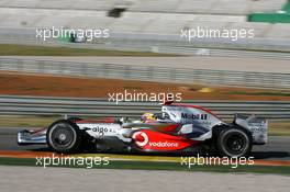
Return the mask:
MULTIPOLYGON (((35 159, 30 158, 0 158, 0 165, 3 166, 36 166, 35 159)), ((86 166, 49 166, 66 168, 86 168, 86 166)), ((175 170, 175 171, 202 171, 202 172, 250 172, 250 173, 275 173, 290 176, 290 167, 280 166, 239 166, 231 168, 230 166, 181 166, 178 162, 149 162, 149 161, 110 161, 107 166, 92 166, 93 169, 132 169, 132 170, 175 170)))

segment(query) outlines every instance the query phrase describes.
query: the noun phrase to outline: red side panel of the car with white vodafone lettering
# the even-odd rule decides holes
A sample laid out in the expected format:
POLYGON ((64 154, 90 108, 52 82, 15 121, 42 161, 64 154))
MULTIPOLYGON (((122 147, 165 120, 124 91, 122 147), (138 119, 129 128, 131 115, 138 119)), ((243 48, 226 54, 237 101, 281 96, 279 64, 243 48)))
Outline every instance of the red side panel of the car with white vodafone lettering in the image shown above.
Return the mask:
MULTIPOLYGON (((192 139, 183 138, 181 136, 174 136, 159 132, 154 132, 150 129, 143 129, 138 132, 145 133, 148 138, 148 142, 144 146, 138 146, 137 143, 135 143, 141 149, 170 151, 170 150, 185 149, 187 147, 196 146, 199 144, 198 140, 192 140, 192 139)), ((140 135, 136 136, 135 142, 146 140, 146 139, 141 139, 140 135)))

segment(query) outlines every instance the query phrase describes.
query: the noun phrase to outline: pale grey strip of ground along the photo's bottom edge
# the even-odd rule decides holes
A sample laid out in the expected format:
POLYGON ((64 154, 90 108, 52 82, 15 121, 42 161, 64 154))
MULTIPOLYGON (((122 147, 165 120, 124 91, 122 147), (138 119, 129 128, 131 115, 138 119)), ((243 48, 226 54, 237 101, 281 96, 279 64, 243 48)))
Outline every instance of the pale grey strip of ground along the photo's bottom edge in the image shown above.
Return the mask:
POLYGON ((0 166, 0 178, 1 192, 286 192, 290 188, 289 177, 252 173, 0 166))

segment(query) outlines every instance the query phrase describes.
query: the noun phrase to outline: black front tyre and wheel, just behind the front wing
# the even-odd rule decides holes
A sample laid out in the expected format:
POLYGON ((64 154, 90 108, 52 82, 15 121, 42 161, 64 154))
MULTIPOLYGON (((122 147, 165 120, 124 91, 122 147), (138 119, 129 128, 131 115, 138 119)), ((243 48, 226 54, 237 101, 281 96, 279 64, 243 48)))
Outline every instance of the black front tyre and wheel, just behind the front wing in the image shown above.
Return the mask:
POLYGON ((60 120, 53 123, 46 132, 49 148, 59 154, 76 153, 80 148, 81 132, 70 121, 60 120))

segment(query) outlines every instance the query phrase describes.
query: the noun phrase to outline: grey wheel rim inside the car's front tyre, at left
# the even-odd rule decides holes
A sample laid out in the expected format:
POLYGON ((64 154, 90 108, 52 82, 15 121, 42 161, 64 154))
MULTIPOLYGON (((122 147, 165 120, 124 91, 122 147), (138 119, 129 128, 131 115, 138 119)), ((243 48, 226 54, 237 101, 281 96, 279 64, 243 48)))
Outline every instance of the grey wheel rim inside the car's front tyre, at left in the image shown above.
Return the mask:
POLYGON ((76 140, 76 132, 66 124, 58 124, 52 128, 51 142, 55 148, 70 148, 76 140))

